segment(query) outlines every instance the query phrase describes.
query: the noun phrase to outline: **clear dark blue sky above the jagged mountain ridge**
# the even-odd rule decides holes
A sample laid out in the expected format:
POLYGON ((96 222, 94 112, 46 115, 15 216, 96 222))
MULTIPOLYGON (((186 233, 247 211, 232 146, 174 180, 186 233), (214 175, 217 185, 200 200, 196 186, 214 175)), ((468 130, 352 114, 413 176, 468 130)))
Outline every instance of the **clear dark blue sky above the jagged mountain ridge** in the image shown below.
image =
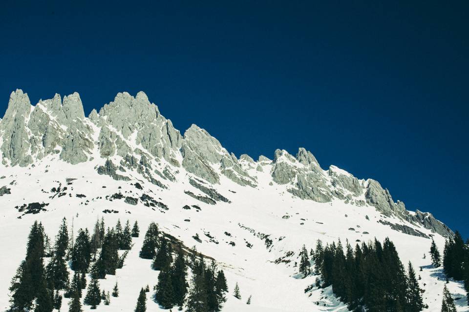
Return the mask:
POLYGON ((16 88, 86 114, 143 90, 181 132, 305 147, 469 236, 468 1, 45 2, 2 1, 0 115, 16 88))

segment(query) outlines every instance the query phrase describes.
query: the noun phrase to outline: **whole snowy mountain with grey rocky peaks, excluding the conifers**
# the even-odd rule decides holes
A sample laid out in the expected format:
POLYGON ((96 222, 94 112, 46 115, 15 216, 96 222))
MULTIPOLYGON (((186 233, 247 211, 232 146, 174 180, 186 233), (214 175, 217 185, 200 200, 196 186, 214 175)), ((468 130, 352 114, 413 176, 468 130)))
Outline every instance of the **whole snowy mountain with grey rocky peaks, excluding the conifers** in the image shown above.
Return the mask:
MULTIPOLYGON (((85 117, 78 93, 32 106, 16 90, 0 120, 0 151, 0 309, 9 306, 32 222, 41 220, 53 237, 64 216, 75 232, 101 216, 108 224, 137 220, 143 232, 154 221, 195 245, 218 261, 230 290, 239 284, 243 300, 228 296, 223 311, 347 311, 330 289, 304 292, 314 277, 298 278, 299 250, 317 239, 387 236, 404 263, 424 268, 418 273, 427 311, 441 305, 441 268, 423 255, 431 237, 443 250, 453 232, 430 213, 408 211, 378 181, 323 170, 304 148, 296 156, 276 150, 273 159, 238 158, 196 125, 181 135, 143 92, 119 93, 85 117)), ((101 282, 110 290, 117 279, 122 295, 98 309, 132 311, 140 288, 156 284, 158 272, 138 257, 142 240, 134 240, 124 268, 101 282)), ((465 296, 460 283, 449 289, 465 296)), ((465 300, 458 311, 469 311, 465 300)))

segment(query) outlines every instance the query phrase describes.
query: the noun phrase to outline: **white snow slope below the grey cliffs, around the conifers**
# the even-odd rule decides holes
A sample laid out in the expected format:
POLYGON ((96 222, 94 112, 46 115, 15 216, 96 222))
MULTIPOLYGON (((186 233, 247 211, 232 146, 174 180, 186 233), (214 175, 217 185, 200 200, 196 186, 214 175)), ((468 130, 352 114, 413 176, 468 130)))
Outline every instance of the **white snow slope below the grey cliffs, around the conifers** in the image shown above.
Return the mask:
MULTIPOLYGON (((324 243, 348 239, 353 245, 357 239, 368 241, 374 237, 383 241, 389 236, 395 243, 404 264, 411 261, 416 271, 421 275, 419 281, 425 290, 424 302, 429 308, 426 311, 439 311, 441 293, 445 284, 442 268, 432 268, 428 254, 430 240, 427 238, 402 234, 391 230, 390 227, 378 223, 383 218, 374 207, 357 207, 335 200, 332 203, 317 203, 310 200, 301 200, 285 192, 285 186, 278 186, 271 181, 270 167, 265 165, 262 173, 257 173, 258 187, 242 187, 228 178, 221 176, 217 191, 228 197, 231 203, 217 202, 208 205, 199 202, 184 194, 190 190, 195 194, 200 191, 189 184, 188 174, 179 168, 176 182, 165 180, 168 190, 163 190, 138 176, 136 172, 120 173, 133 176, 131 181, 115 181, 109 176, 100 176, 94 169, 102 165, 104 160, 94 155, 92 161, 71 165, 50 156, 35 163, 35 167, 1 167, 1 185, 11 188, 11 195, 0 197, 1 227, 0 227, 0 309, 6 310, 9 306, 9 291, 11 277, 24 258, 26 238, 34 220, 40 220, 46 233, 52 239, 55 237, 61 220, 66 217, 69 231, 71 231, 72 217, 74 220, 75 235, 80 228, 87 227, 90 231, 98 218, 102 216, 107 226, 114 226, 117 219, 132 224, 135 220, 140 226, 140 237, 134 238, 134 248, 128 255, 125 265, 117 270, 115 276, 107 275, 100 280, 102 289, 112 290, 116 282, 120 285, 120 296, 111 297, 111 304, 101 304, 99 311, 132 311, 135 308, 138 292, 147 284, 152 289, 157 282, 158 272, 150 268, 150 260, 138 256, 145 231, 151 221, 158 223, 160 229, 182 240, 186 246, 195 245, 197 250, 215 258, 220 268, 223 268, 230 293, 228 301, 222 311, 272 311, 272 312, 306 312, 306 311, 347 311, 329 289, 314 288, 312 292, 305 293, 304 289, 314 283, 315 276, 300 278, 298 269, 294 267, 298 260, 298 252, 303 243, 308 250, 314 248, 316 240, 324 243), (47 172, 46 172, 47 171, 47 172), (76 178, 71 185, 66 185, 65 178, 76 178), (142 184, 144 190, 138 190, 132 182, 142 184), (52 187, 59 182, 68 189, 67 195, 49 198, 52 187), (12 185, 10 185, 12 183, 12 185), (106 188, 103 188, 106 186, 106 188), (118 189, 122 187, 122 189, 118 189), (106 195, 121 192, 123 195, 139 197, 143 192, 152 195, 166 205, 168 211, 152 210, 141 202, 133 206, 124 200, 108 201, 106 195), (234 193, 235 192, 235 193, 234 193), (153 193, 153 194, 151 194, 153 193), (70 194, 71 197, 68 195, 70 194), (84 194, 85 198, 78 198, 76 194, 84 194), (89 201, 85 205, 86 201, 89 201), (23 215, 15 209, 23 203, 48 202, 47 211, 37 215, 23 215), (198 205, 195 209, 182 209, 184 205, 198 205), (113 209, 118 214, 104 214, 103 210, 113 209), (288 215, 288 219, 282 216, 288 215), (347 216, 345 216, 347 215, 347 216), (369 216, 370 220, 365 218, 369 216), (190 219, 190 222, 184 221, 190 219), (304 220, 303 220, 304 219, 304 220), (303 223, 303 224, 302 224, 303 223), (255 234, 270 235, 273 246, 266 248, 264 241, 240 225, 251 228, 255 234), (349 230, 354 228, 355 231, 349 230), (228 232, 231 236, 224 234, 228 232), (369 234, 363 234, 368 232, 369 234), (202 239, 198 243, 192 238, 196 233, 202 239), (219 242, 215 244, 204 235, 210 233, 219 242), (229 242, 235 242, 235 246, 229 242), (251 243, 252 248, 246 246, 251 243), (275 259, 284 256, 288 251, 295 254, 288 258, 290 263, 275 264, 275 259), (423 255, 426 254, 426 259, 423 255), (418 268, 423 267, 419 272, 418 268), (239 284, 242 299, 233 297, 235 283, 239 284), (245 302, 252 295, 251 305, 245 302)), ((392 220, 402 223, 402 220, 392 220)), ((431 234, 430 231, 418 228, 420 231, 431 234)), ((434 234, 434 239, 443 251, 444 238, 434 234)), ((450 281, 449 290, 456 298, 458 311, 469 311, 463 285, 460 282, 450 281)), ((151 294, 152 292, 150 292, 151 294)), ((63 310, 67 309, 69 299, 64 299, 63 310)), ((161 309, 149 296, 147 300, 148 311, 161 309)), ((173 308, 176 311, 177 308, 173 308)), ((89 311, 89 306, 84 306, 89 311)))

